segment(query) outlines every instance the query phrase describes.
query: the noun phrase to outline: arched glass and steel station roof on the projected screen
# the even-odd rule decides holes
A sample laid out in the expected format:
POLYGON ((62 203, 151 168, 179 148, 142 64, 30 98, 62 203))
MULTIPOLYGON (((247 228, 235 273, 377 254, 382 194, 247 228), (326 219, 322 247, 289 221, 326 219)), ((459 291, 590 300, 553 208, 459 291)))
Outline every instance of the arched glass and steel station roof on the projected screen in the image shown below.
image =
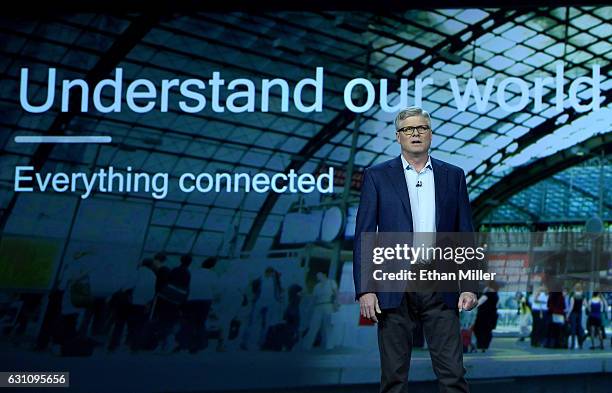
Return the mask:
MULTIPOLYGON (((350 158, 355 114, 344 108, 343 86, 360 76, 387 78, 389 91, 395 92, 389 95, 390 105, 399 101, 400 78, 434 79, 423 102, 433 120, 432 155, 464 168, 474 201, 518 168, 611 131, 612 82, 605 78, 612 59, 611 19, 612 7, 410 10, 384 16, 283 12, 163 18, 146 14, 51 15, 44 20, 1 17, 0 209, 3 215, 10 215, 21 206, 12 191, 13 168, 32 162, 49 170, 70 171, 131 165, 175 176, 185 171, 256 173, 344 167, 350 158), (451 107, 449 78, 481 81, 495 73, 533 81, 554 74, 558 61, 564 64, 567 83, 589 76, 593 65, 601 67, 606 82, 601 85, 599 111, 578 113, 567 104, 559 112, 553 88, 546 86, 543 110, 538 113, 532 107, 507 113, 492 104, 485 115, 451 107), (62 114, 59 110, 32 115, 18 101, 17 81, 24 66, 30 67, 31 85, 36 86, 31 97, 39 101, 46 95, 48 67, 56 67, 58 77, 87 80, 108 77, 115 67, 122 67, 127 81, 142 75, 158 80, 205 79, 220 71, 225 79, 280 77, 290 84, 313 77, 316 67, 325 67, 326 96, 324 110, 309 114, 186 114, 171 106, 167 113, 147 115, 128 111, 62 114), (17 135, 59 130, 112 135, 113 143, 49 147, 14 142, 17 135)), ((519 93, 514 91, 508 102, 518 100, 519 93)), ((209 99, 209 93, 205 94, 209 99)), ((591 89, 582 86, 578 96, 590 100, 591 89)), ((225 98, 222 95, 221 100, 225 98)), ((409 103, 412 100, 410 95, 409 103)), ((277 95, 270 105, 279 107, 279 102, 277 95)), ((361 115, 356 171, 399 154, 393 117, 379 105, 361 115)), ((582 182, 588 182, 588 176, 583 179, 581 168, 567 169, 547 180, 548 193, 565 195, 567 182, 586 189, 589 185, 582 182)), ((609 185, 611 181, 607 170, 605 182, 609 185)), ((526 206, 533 199, 530 192, 536 191, 510 198, 510 204, 496 210, 493 219, 513 222, 524 218, 513 206, 526 206)), ((271 200, 266 194, 188 195, 172 190, 163 201, 146 194, 116 194, 113 198, 152 206, 145 253, 224 255, 244 249, 249 236, 255 241, 246 248, 269 249, 283 215, 300 196, 271 200)), ((590 200, 591 196, 576 198, 590 200)), ((570 206, 550 205, 570 215, 581 214, 573 210, 574 204, 585 206, 574 200, 570 206)), ((610 207, 606 209, 610 217, 610 207)))

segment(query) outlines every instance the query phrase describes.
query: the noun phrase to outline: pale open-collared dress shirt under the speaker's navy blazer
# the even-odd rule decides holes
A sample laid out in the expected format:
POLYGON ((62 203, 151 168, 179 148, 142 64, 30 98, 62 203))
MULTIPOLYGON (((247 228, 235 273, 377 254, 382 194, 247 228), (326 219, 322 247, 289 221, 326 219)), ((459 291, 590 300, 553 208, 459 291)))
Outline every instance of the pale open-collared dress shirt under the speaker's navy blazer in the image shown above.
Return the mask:
POLYGON ((427 164, 417 172, 406 161, 403 155, 402 165, 404 176, 410 196, 410 210, 412 212, 412 228, 414 232, 436 231, 436 186, 434 183, 433 167, 431 157, 427 158, 427 164), (418 185, 418 187, 417 187, 418 185))

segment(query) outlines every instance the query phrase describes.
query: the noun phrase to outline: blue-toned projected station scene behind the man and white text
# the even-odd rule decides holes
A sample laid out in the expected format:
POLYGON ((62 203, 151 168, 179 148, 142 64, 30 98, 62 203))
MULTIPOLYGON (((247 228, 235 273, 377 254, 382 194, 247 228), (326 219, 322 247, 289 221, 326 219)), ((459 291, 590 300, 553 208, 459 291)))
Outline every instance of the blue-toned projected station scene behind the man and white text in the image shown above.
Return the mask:
MULTIPOLYGON (((554 234, 585 231, 589 221, 606 232, 601 252, 609 256, 611 18, 612 7, 604 6, 0 17, 0 369, 67 370, 71 389, 83 392, 376 391, 376 329, 360 321, 353 302, 352 239, 364 168, 400 150, 395 113, 378 99, 362 114, 346 109, 344 86, 367 78, 378 90, 377 81, 387 79, 389 103, 396 104, 399 80, 407 78, 412 104, 413 81, 433 78, 422 97, 433 123, 431 154, 465 170, 477 228, 539 231, 554 242, 554 234), (532 83, 553 77, 558 62, 566 94, 572 81, 600 66, 600 110, 578 112, 568 103, 559 111, 552 86, 544 87, 537 112, 530 104, 509 113, 494 100, 484 113, 454 104, 450 78, 475 78, 481 87, 490 77, 532 83), (220 71, 256 86, 276 77, 294 86, 324 67, 324 104, 321 112, 282 112, 275 92, 266 113, 184 113, 172 92, 165 113, 81 113, 78 105, 61 112, 56 100, 32 114, 19 103, 22 67, 38 103, 50 67, 58 78, 92 86, 117 67, 126 82, 208 80, 220 71), (112 142, 15 140, 50 135, 112 142), (171 184, 184 172, 318 174, 333 167, 335 188, 186 194, 171 187, 163 200, 144 192, 81 199, 14 192, 18 165, 67 173, 131 166, 169 173, 171 184), (192 296, 204 288, 197 298, 204 302, 160 306, 159 277, 181 276, 175 268, 185 255, 192 259, 192 296), (144 260, 151 267, 139 268, 144 260), (204 269, 205 261, 216 263, 204 269), (321 299, 332 302, 318 307, 321 299)), ((507 102, 518 102, 519 93, 509 87, 507 102)), ((587 84, 577 91, 583 103, 591 94, 587 84)), ((204 95, 210 100, 210 89, 204 95)), ((303 97, 315 98, 311 90, 303 97)), ((528 265, 529 252, 525 243, 500 260, 528 265)), ((597 266, 602 280, 610 269, 609 262, 597 266)), ((605 386, 598 381, 612 370, 609 330, 603 350, 589 350, 589 341, 583 350, 532 347, 529 339, 518 341, 525 334, 518 306, 516 294, 502 288, 490 350, 466 354, 474 391, 488 391, 497 379, 514 391, 605 386)), ((413 356, 415 391, 435 389, 428 352, 413 356)))

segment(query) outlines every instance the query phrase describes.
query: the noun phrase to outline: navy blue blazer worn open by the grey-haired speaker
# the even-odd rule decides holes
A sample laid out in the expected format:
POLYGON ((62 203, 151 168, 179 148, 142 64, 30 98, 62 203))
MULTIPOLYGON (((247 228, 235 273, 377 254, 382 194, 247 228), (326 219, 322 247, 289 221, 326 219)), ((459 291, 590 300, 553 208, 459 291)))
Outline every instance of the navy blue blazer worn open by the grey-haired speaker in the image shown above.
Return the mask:
MULTIPOLYGON (((431 157, 436 194, 437 232, 474 232, 472 212, 463 169, 431 157)), ((363 232, 412 232, 412 212, 402 159, 396 158, 371 166, 364 171, 361 199, 357 211, 353 247, 355 298, 361 290, 361 234, 363 232)), ((476 292, 470 283, 462 291, 476 292), (467 287, 469 286, 469 287, 467 287)), ((403 293, 378 292, 382 309, 396 308, 403 293)), ((443 293, 449 307, 456 308, 458 293, 443 293)))

